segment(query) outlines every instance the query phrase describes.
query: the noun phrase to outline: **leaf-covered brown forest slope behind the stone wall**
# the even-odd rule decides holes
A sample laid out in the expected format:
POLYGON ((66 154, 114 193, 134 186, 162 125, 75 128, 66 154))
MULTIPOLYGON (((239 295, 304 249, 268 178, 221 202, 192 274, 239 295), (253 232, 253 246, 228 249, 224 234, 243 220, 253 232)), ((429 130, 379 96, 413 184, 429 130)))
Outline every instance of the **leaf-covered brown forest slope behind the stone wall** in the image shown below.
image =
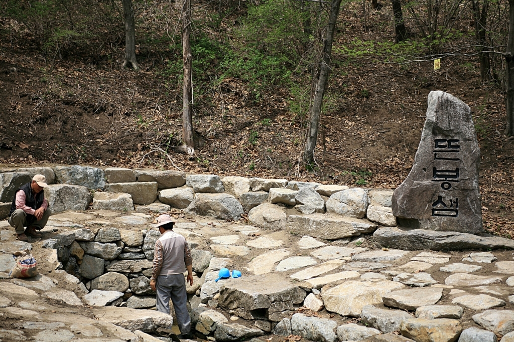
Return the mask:
MULTIPOLYGON (((383 12, 371 13, 365 30, 358 13, 346 15, 357 24, 338 30, 335 47, 353 37, 383 39, 373 25, 383 12)), ((448 58, 434 70, 432 62, 350 61, 334 49, 317 167, 309 172, 300 162, 306 120, 291 113, 285 89, 255 98, 247 84, 230 78, 209 89, 194 116, 206 143, 188 157, 169 145, 180 136, 181 86, 170 89, 155 60, 139 55, 141 71, 134 72, 121 67, 123 46, 108 62, 77 55, 51 61, 29 43, 0 40, 0 166, 152 167, 394 189, 412 167, 428 93, 443 90, 472 110, 484 227, 514 236, 514 140, 503 131, 504 95, 497 84, 481 82, 476 60, 448 58)))

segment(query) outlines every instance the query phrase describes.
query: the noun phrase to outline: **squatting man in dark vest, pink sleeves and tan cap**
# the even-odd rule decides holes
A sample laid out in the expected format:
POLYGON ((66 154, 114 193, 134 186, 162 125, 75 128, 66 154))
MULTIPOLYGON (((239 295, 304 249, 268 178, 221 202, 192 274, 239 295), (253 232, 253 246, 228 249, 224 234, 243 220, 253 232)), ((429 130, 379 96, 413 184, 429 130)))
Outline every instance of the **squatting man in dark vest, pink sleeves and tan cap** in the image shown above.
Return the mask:
POLYGON ((9 212, 9 224, 16 231, 16 238, 28 241, 27 235, 41 237, 42 230, 50 217, 48 201, 43 189, 47 187, 46 178, 43 175, 35 175, 30 183, 16 190, 9 212), (24 230, 24 227, 27 227, 24 230))

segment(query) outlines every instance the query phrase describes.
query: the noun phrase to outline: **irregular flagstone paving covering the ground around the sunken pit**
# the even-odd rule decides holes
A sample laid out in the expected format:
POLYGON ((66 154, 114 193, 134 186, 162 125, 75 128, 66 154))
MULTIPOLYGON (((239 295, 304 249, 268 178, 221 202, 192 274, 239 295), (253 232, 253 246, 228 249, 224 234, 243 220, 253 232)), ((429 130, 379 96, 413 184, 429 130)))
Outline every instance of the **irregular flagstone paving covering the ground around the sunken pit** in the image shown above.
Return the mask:
MULTIPOLYGON (((148 233, 153 228, 148 214, 65 212, 50 217, 43 237, 29 243, 15 240, 13 229, 0 221, 0 340, 143 342, 177 332, 172 316, 151 310, 155 299, 141 282, 148 264, 142 269, 134 264, 126 273, 131 289, 139 281, 141 295, 116 280, 123 254, 105 261, 105 274, 93 285, 105 286, 108 278, 123 289, 93 290, 91 282, 86 286, 57 269, 62 257, 57 250, 43 248, 71 232, 75 238, 93 232, 111 241, 119 239, 119 231, 125 241, 141 244, 143 234, 155 235, 148 233), (32 249, 40 275, 9 279, 10 254, 25 248, 32 249), (134 309, 139 307, 146 309, 134 309)), ((196 251, 188 299, 198 335, 206 339, 283 341, 289 334, 325 342, 514 338, 512 252, 377 249, 371 236, 327 241, 243 221, 178 221, 175 231, 196 251), (241 271, 242 277, 215 282, 222 267, 241 271)), ((140 262, 148 263, 148 251, 127 248, 126 253, 140 254, 140 262)))

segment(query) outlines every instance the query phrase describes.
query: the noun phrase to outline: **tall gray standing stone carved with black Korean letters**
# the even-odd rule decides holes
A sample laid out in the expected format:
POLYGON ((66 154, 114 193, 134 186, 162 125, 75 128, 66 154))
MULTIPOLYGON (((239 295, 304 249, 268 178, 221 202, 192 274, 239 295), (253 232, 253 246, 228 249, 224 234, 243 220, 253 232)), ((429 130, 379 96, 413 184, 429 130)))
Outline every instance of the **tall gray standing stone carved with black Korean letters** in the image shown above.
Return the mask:
POLYGON ((393 194, 400 227, 482 232, 480 148, 471 110, 443 91, 431 91, 411 172, 393 194))

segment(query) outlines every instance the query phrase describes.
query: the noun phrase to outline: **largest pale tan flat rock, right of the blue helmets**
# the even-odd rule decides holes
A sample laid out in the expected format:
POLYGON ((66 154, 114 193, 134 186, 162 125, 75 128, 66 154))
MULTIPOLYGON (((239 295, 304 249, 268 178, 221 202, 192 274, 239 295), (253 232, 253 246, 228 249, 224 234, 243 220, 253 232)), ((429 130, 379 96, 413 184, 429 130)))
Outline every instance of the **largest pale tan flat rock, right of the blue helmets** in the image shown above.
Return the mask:
POLYGON ((401 283, 389 280, 347 280, 321 292, 327 311, 343 316, 359 317, 362 308, 382 302, 387 293, 402 289, 401 283))

